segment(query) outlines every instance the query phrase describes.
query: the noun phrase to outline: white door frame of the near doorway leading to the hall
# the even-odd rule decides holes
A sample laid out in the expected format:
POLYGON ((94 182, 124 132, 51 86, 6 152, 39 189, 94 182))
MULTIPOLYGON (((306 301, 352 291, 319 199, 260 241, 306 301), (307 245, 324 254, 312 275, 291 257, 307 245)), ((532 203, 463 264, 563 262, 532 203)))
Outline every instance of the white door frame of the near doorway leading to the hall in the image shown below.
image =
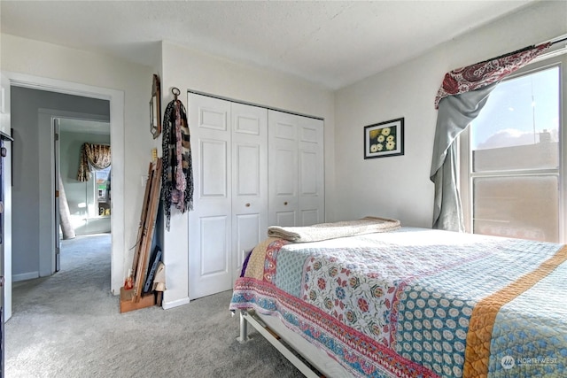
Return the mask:
MULTIPOLYGON (((125 162, 125 150, 124 150, 124 91, 116 89, 107 89, 102 87, 94 87, 86 84, 70 82, 70 81, 60 81, 55 79, 49 79, 34 75, 28 75, 24 73, 11 73, 4 72, 5 76, 10 80, 10 85, 24 87, 28 89, 40 89, 48 90, 52 92, 74 95, 74 96, 84 96, 90 98, 97 98, 108 100, 110 102, 110 125, 111 125, 111 143, 113 145, 113 156, 112 156, 112 181, 113 181, 113 219, 111 221, 111 232, 112 232, 112 251, 111 251, 111 291, 114 295, 120 293, 120 286, 123 281, 123 271, 124 271, 124 251, 125 249, 125 219, 124 219, 124 162, 125 162)), ((63 112, 59 112, 63 113, 63 112)), ((65 117, 62 117, 65 118, 65 117)), ((43 130, 44 132, 49 132, 52 134, 52 123, 50 130, 43 130)), ((41 130, 41 128, 40 128, 41 130)), ((53 143, 50 143, 53 146, 53 143)), ((52 149, 52 147, 51 147, 52 149)), ((46 151, 47 152, 47 151, 46 151)), ((53 159, 53 152, 50 151, 49 155, 53 159)), ((51 162, 51 169, 48 174, 53 175, 54 162, 51 162)), ((52 178, 52 177, 51 177, 52 178)), ((51 185, 53 193, 51 197, 53 198, 54 185, 51 185)), ((50 206, 50 212, 54 212, 54 206, 50 206)), ((53 213, 50 213, 49 219, 54 222, 53 213)), ((53 232, 49 230, 51 238, 55 238, 53 232)), ((51 240, 51 248, 55 248, 54 240, 51 240)), ((48 265, 55 266, 55 253, 50 254, 50 261, 48 265)), ((10 267, 12 268, 12 267, 10 267)), ((40 269, 41 272, 41 269, 40 269)))

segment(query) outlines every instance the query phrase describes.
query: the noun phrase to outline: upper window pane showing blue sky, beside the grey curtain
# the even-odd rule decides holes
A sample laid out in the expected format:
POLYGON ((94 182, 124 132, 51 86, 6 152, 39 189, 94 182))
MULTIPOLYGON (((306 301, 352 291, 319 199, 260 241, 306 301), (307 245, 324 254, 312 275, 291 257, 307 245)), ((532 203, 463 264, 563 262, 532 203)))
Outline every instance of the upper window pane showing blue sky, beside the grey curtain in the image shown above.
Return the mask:
POLYGON ((471 123, 473 172, 559 166, 559 67, 502 81, 471 123))

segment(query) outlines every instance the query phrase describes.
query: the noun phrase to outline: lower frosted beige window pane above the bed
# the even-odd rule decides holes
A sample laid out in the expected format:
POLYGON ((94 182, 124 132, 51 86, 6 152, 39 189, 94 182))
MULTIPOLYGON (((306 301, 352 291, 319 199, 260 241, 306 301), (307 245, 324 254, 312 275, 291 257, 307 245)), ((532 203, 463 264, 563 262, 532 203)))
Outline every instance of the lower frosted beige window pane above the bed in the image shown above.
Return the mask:
POLYGON ((473 232, 556 242, 555 175, 473 179, 473 232))

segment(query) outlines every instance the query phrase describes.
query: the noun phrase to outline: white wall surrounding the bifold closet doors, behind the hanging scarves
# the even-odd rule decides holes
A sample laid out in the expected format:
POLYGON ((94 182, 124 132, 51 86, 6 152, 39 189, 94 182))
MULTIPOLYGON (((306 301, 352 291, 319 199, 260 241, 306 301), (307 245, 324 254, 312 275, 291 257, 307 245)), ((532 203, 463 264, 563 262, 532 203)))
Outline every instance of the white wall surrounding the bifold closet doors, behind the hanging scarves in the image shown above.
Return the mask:
MULTIPOLYGON (((332 199, 334 111, 333 94, 329 90, 289 75, 186 50, 173 43, 164 42, 161 48, 161 89, 164 109, 173 99, 171 89, 176 87, 181 89, 180 99, 185 105, 187 105, 187 90, 191 89, 247 103, 322 117, 326 149, 326 203, 335 203, 332 199)), ((194 165, 196 164, 194 162, 194 165)), ((335 213, 334 206, 326 206, 326 212, 327 219, 332 219, 335 213)), ((166 308, 181 305, 188 300, 187 228, 187 214, 172 210, 171 230, 165 231, 164 235, 164 261, 167 273, 164 307, 166 308)))

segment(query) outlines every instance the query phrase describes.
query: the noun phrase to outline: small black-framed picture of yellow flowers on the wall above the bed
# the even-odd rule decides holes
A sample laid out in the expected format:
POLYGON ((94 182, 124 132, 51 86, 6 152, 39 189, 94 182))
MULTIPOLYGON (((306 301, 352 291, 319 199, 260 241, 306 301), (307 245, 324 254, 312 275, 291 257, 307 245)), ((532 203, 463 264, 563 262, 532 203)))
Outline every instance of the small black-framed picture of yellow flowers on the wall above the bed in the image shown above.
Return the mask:
POLYGON ((364 158, 404 154, 404 119, 386 120, 364 127, 364 158))

